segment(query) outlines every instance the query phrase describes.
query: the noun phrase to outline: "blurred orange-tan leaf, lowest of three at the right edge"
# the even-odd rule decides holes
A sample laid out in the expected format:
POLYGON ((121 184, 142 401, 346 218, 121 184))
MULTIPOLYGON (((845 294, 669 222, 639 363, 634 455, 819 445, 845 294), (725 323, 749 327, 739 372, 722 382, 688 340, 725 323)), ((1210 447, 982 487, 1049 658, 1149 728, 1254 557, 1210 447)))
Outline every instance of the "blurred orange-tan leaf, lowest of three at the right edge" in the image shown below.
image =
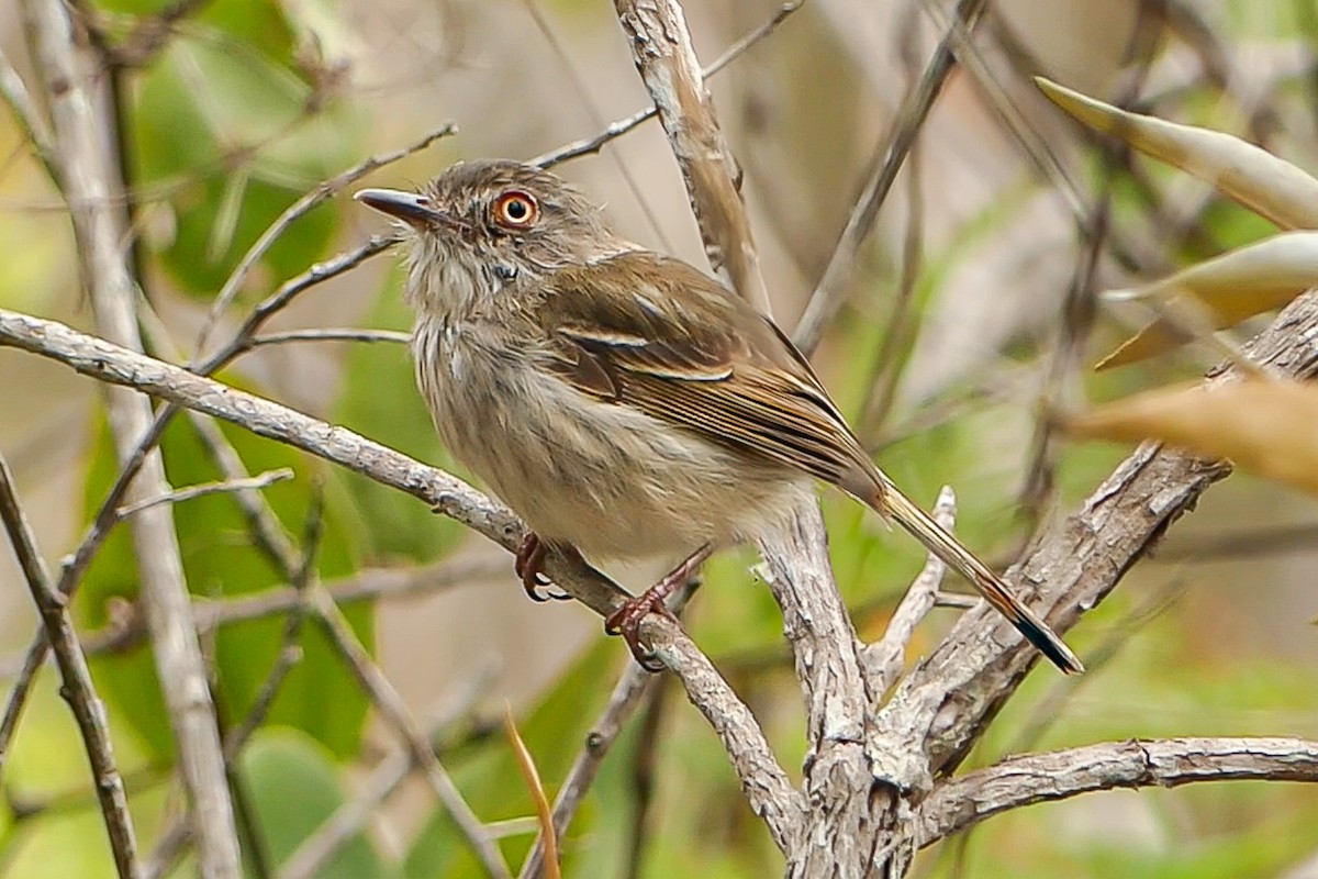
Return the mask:
POLYGON ((1155 439, 1318 496, 1318 383, 1247 380, 1153 390, 1066 422, 1089 439, 1155 439))

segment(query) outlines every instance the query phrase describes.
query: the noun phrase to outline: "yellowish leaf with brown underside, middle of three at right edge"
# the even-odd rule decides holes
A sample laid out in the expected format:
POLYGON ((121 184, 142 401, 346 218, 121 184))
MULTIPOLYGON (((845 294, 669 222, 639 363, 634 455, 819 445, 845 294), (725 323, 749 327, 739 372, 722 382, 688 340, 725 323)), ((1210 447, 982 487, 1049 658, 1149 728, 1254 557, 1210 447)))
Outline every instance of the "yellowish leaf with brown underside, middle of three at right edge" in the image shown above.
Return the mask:
MULTIPOLYGON (((1110 302, 1161 299, 1173 315, 1178 303, 1194 297, 1207 306, 1213 329, 1280 308, 1309 287, 1318 286, 1318 232, 1282 232, 1190 266, 1135 290, 1111 290, 1110 302)), ((1124 366, 1190 341, 1184 327, 1160 319, 1122 343, 1095 369, 1124 366)))

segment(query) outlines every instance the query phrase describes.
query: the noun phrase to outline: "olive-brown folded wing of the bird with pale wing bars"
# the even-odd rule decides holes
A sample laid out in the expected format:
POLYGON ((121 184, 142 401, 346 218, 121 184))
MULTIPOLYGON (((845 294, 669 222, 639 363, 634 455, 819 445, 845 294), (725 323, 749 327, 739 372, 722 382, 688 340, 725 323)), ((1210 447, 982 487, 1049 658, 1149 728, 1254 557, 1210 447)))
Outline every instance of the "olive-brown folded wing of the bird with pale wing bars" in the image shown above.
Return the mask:
POLYGON ((836 485, 873 470, 782 332, 684 262, 637 252, 560 270, 540 314, 554 368, 583 391, 836 485))

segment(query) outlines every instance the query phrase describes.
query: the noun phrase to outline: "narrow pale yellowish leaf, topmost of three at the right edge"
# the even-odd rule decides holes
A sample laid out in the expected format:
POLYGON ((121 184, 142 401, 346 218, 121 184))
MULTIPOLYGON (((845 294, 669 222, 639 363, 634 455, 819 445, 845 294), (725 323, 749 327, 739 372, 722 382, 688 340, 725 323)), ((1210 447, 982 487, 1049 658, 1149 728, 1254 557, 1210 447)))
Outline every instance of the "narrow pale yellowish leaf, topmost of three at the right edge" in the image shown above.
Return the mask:
POLYGON ((1318 228, 1318 181, 1239 137, 1118 109, 1036 76, 1048 98, 1090 128, 1213 184, 1284 229, 1318 228))

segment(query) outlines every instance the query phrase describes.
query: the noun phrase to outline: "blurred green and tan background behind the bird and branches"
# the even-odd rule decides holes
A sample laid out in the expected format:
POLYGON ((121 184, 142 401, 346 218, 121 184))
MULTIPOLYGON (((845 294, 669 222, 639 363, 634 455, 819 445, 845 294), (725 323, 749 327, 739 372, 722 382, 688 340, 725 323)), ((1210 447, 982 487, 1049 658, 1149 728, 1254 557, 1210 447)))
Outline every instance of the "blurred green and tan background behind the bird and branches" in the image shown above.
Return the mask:
MULTIPOLYGON (((36 83, 18 5, 0 5, 0 49, 36 83)), ((648 103, 602 0, 199 0, 152 45, 142 22, 166 8, 158 0, 74 4, 133 50, 116 76, 134 260, 161 332, 185 354, 246 248, 322 179, 455 123, 456 134, 364 182, 413 187, 461 158, 540 156, 648 103)), ((713 61, 778 8, 770 0, 688 3, 701 59, 713 61)), ((949 20, 946 3, 811 0, 710 80, 784 327, 805 308, 896 107, 949 20)), ((941 485, 956 488, 958 532, 995 564, 1010 564, 1036 527, 1073 511, 1123 457, 1119 448, 1052 440, 1040 453, 1045 409, 1194 377, 1214 361, 1191 345, 1149 365, 1052 382, 1069 289, 1152 278, 1269 228, 1184 175, 1102 149, 1029 78, 1044 74, 1106 100, 1137 98, 1147 112, 1231 130, 1315 170, 1315 36, 1318 8, 1307 0, 990 4, 974 40, 978 61, 953 72, 923 127, 813 360, 899 485, 925 503, 941 485), (1091 213, 1101 202, 1112 233, 1089 281, 1078 268, 1089 242, 1075 208, 1091 213)), ((556 170, 605 202, 629 237, 706 265, 658 124, 556 170)), ((281 282, 386 231, 347 195, 279 240, 215 339, 281 282)), ((9 113, 0 113, 0 306, 92 326, 66 211, 9 113)), ((384 254, 311 289, 268 331, 406 329, 395 262, 384 254)), ((1141 318, 1099 308, 1083 361, 1141 318)), ((402 345, 266 345, 221 377, 456 469, 402 345)), ((113 477, 100 390, 0 349, 0 448, 51 565, 76 546, 113 477)), ((622 643, 605 639, 600 621, 571 602, 526 601, 502 550, 413 498, 239 431, 225 435, 253 472, 295 470, 266 490, 294 534, 323 493, 327 585, 381 568, 465 565, 457 582, 422 582, 407 597, 349 605, 349 615, 413 712, 443 720, 442 758, 477 813, 530 814, 497 727, 502 705, 514 706, 552 793, 627 662, 622 643)), ((175 486, 216 478, 187 423, 170 428, 165 451, 175 486)), ((829 494, 824 505, 840 585, 861 634, 876 638, 921 555, 847 499, 829 494)), ((179 503, 174 514, 190 588, 207 606, 279 584, 232 498, 179 503)), ((720 555, 687 621, 795 774, 800 696, 754 563, 749 551, 720 555)), ((660 568, 612 572, 638 589, 660 568)), ((1064 681, 1036 669, 970 764, 1132 737, 1318 737, 1315 572, 1313 499, 1232 476, 1069 635, 1093 672, 1064 681)), ((0 551, 0 669, 11 680, 36 615, 8 550, 0 551)), ((78 593, 88 639, 113 640, 134 594, 120 528, 78 593)), ((913 654, 937 643, 956 613, 936 610, 913 654)), ((281 631, 281 619, 266 617, 207 633, 231 720, 248 710, 281 631)), ((275 862, 397 747, 319 635, 304 639, 302 663, 244 759, 275 862), (290 809, 291 792, 301 792, 301 809, 290 809)), ((121 642, 95 656, 94 673, 150 850, 181 803, 150 656, 141 639, 121 642)), ((55 680, 51 669, 40 677, 4 767, 3 876, 112 875, 55 680)), ((916 875, 1314 878, 1315 826, 1318 793, 1301 785, 1089 795, 995 818, 925 851, 916 875)), ((453 839, 428 789, 405 785, 319 875, 477 875, 453 839)), ((503 841, 514 863, 529 843, 525 828, 503 841)), ((563 846, 569 876, 782 868, 717 739, 672 681, 660 683, 609 755, 563 846)), ((175 875, 191 868, 185 859, 175 875)))

